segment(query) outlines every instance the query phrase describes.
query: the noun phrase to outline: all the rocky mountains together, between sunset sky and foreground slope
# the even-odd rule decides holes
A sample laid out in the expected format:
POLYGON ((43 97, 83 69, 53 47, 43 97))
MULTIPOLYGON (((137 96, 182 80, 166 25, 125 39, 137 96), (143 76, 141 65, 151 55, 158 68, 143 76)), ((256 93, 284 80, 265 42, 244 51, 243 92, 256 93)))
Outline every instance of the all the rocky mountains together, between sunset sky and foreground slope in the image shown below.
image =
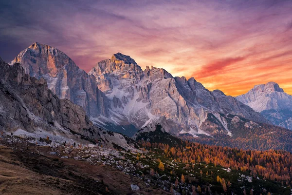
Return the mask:
MULTIPOLYGON (((290 132, 273 125, 291 128, 292 98, 274 82, 257 85, 234 98, 219 90, 209 91, 194 78, 173 77, 162 68, 146 66, 142 70, 134 59, 121 53, 98 62, 86 73, 60 50, 37 42, 21 51, 10 66, 1 63, 5 67, 3 83, 15 79, 7 78, 15 69, 14 77, 29 80, 25 87, 18 80, 9 90, 3 88, 17 94, 17 104, 27 108, 22 111, 11 105, 12 112, 4 112, 6 102, 2 101, 2 121, 9 126, 2 125, 3 129, 46 129, 55 135, 62 135, 65 129, 69 130, 68 135, 63 133, 65 137, 109 140, 100 136, 100 131, 136 138, 155 131, 153 127, 160 124, 167 133, 202 143, 269 149, 271 145, 263 147, 259 141, 264 137, 283 142, 272 144, 274 148, 291 150, 290 144, 284 144, 290 142, 290 132), (51 105, 51 101, 55 103, 51 105), (22 112, 28 114, 11 116, 22 112), (23 121, 22 116, 28 118, 23 121), (7 117, 15 118, 14 122, 5 123, 7 117), (274 138, 274 132, 281 136, 274 138)), ((126 139, 115 138, 121 143, 126 139)))

